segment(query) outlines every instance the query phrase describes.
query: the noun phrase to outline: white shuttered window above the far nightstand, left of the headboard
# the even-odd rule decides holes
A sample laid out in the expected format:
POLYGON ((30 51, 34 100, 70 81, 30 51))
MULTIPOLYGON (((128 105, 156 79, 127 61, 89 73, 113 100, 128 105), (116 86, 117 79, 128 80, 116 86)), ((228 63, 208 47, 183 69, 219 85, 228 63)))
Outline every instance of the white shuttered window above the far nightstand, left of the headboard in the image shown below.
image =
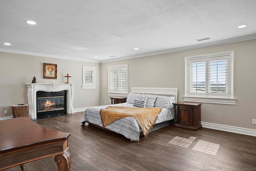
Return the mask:
MULTIPOLYGON (((108 95, 128 93, 128 65, 108 67, 108 95)), ((123 95, 120 95, 123 96, 123 95)))

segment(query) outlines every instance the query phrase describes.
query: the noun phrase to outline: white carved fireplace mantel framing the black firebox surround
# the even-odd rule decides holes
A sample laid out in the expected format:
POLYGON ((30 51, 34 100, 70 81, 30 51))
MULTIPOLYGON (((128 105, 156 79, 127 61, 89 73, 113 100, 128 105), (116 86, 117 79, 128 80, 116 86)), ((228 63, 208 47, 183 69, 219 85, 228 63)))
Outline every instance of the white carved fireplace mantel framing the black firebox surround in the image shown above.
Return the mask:
POLYGON ((67 113, 73 113, 74 84, 27 84, 28 85, 28 116, 36 119, 36 92, 57 92, 67 90, 67 113))

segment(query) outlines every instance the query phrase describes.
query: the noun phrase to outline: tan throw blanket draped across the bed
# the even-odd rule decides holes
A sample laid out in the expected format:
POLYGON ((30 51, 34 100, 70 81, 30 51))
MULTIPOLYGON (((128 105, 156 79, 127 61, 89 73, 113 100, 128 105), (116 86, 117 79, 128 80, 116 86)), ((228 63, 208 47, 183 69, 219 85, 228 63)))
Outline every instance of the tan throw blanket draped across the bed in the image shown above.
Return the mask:
POLYGON ((146 137, 156 122, 160 111, 162 111, 162 108, 109 106, 106 109, 101 109, 100 115, 103 127, 126 116, 134 117, 146 137))

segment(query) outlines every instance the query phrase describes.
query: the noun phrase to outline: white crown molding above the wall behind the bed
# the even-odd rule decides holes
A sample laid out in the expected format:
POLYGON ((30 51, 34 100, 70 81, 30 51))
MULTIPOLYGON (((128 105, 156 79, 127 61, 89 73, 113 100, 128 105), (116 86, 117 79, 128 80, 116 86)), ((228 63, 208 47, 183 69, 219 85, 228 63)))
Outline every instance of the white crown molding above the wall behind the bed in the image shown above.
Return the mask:
POLYGON ((252 40, 252 39, 256 39, 256 34, 251 34, 251 35, 241 36, 241 37, 236 37, 236 38, 230 38, 230 39, 225 39, 225 40, 220 40, 220 41, 215 41, 215 42, 209 42, 209 43, 204 43, 204 44, 197 44, 197 45, 192 45, 192 46, 184 46, 184 47, 180 47, 180 48, 173 48, 173 49, 168 49, 168 50, 149 52, 149 53, 145 53, 145 54, 126 56, 126 57, 115 58, 115 59, 111 59, 111 60, 104 60, 104 61, 100 61, 100 63, 128 60, 128 59, 132 59, 132 58, 140 58, 140 57, 144 57, 144 56, 167 54, 167 53, 171 53, 171 52, 179 52, 179 51, 192 50, 192 49, 198 49, 198 48, 206 48, 206 47, 210 47, 210 46, 242 42, 242 41, 252 40))

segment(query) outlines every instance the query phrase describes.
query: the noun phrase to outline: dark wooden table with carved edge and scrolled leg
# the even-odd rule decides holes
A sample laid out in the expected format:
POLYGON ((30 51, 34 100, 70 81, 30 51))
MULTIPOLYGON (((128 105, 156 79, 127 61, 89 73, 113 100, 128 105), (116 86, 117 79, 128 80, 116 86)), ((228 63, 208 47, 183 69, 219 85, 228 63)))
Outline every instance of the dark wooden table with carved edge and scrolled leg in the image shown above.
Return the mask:
POLYGON ((70 133, 55 131, 34 123, 30 117, 0 121, 0 170, 54 156, 58 171, 69 171, 70 133))

